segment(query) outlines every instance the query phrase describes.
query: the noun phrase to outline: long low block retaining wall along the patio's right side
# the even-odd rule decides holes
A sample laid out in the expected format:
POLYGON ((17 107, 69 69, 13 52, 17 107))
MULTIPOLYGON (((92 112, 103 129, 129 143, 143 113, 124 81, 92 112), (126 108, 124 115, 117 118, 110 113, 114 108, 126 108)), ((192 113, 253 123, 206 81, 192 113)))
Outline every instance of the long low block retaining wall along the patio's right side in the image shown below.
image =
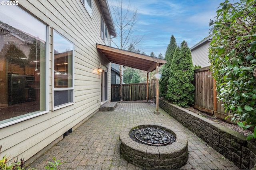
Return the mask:
POLYGON ((236 166, 256 166, 255 140, 246 141, 246 136, 168 101, 159 100, 159 106, 236 166))

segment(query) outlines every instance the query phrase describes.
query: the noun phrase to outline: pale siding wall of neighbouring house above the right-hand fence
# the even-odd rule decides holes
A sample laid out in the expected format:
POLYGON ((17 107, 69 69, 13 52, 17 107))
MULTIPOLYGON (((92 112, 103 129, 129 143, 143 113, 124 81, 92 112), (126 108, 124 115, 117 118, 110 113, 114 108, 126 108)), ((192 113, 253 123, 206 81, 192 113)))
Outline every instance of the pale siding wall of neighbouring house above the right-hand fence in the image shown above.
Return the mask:
POLYGON ((201 66, 201 67, 210 66, 210 62, 208 58, 209 45, 210 45, 210 41, 205 41, 204 43, 191 49, 192 62, 194 66, 195 65, 201 66))

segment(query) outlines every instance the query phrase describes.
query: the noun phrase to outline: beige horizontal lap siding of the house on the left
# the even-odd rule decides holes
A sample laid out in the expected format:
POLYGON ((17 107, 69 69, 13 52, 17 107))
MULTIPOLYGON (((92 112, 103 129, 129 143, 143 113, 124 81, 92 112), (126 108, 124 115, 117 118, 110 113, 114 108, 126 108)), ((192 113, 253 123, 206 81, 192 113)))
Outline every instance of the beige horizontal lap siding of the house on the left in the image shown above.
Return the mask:
MULTIPOLYGON (((99 9, 98 1, 92 0, 92 16, 88 14, 80 0, 23 0, 18 3, 24 12, 28 12, 45 24, 48 29, 46 35, 46 60, 48 61, 46 81, 48 84, 44 85, 48 89, 45 93, 46 111, 36 117, 0 128, 1 156, 18 156, 28 160, 100 108, 102 94, 101 73, 98 72, 100 64, 108 70, 106 94, 108 101, 111 100, 111 67, 109 61, 96 48, 96 43, 104 44, 104 40, 100 37, 102 10, 99 9), (54 31, 74 44, 74 101, 69 106, 55 110, 52 106, 52 96, 54 96, 52 89, 55 86, 52 78, 52 72, 55 69, 53 68, 54 31)), ((1 17, 0 21, 2 21, 1 17)), ((30 29, 33 28, 30 27, 30 29)), ((110 36, 108 36, 108 42, 110 42, 110 36)), ((2 116, 1 107, 0 105, 0 116, 2 116)), ((8 105, 5 104, 4 107, 8 105)))

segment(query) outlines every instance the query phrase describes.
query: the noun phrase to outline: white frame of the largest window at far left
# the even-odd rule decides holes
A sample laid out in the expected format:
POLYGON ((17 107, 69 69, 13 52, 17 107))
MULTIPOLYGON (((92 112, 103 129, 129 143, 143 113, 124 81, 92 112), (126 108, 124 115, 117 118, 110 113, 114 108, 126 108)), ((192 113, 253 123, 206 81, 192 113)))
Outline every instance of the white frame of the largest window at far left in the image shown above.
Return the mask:
MULTIPOLYGON (((26 12, 26 11, 24 11, 24 12, 26 12)), ((37 18, 35 18, 35 19, 38 20, 37 18)), ((42 22, 42 21, 40 21, 40 22, 42 22)), ((14 125, 16 123, 20 123, 22 121, 26 121, 28 119, 32 119, 34 117, 38 117, 40 115, 44 115, 46 113, 49 113, 49 108, 50 108, 49 107, 50 106, 49 98, 48 98, 48 95, 49 95, 49 79, 48 78, 49 78, 49 65, 50 65, 50 61, 49 61, 49 52, 50 52, 50 45, 49 44, 50 44, 50 41, 49 40, 50 40, 49 25, 46 25, 46 48, 45 48, 45 54, 46 54, 45 55, 45 58, 46 58, 46 61, 45 61, 45 65, 46 65, 45 66, 45 80, 46 80, 45 83, 46 83, 46 85, 45 86, 46 87, 45 87, 45 94, 43 94, 43 95, 45 95, 45 99, 44 99, 45 100, 45 111, 38 110, 38 111, 36 111, 38 113, 27 113, 27 114, 24 114, 25 116, 24 115, 20 115, 20 116, 18 116, 18 117, 20 117, 18 119, 15 119, 15 120, 8 121, 6 123, 0 124, 0 129, 4 128, 4 127, 7 127, 7 126, 10 126, 10 125, 14 125)))

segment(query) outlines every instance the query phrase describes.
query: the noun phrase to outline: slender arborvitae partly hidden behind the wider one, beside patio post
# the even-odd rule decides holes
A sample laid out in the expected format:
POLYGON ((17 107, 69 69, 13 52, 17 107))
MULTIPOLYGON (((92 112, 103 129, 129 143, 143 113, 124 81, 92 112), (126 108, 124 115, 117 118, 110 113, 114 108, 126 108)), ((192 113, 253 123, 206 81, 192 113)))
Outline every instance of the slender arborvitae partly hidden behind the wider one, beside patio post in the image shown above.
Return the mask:
POLYGON ((168 79, 170 78, 170 65, 172 63, 172 56, 177 48, 177 43, 175 37, 172 35, 170 39, 170 44, 168 45, 165 53, 165 59, 167 63, 162 67, 162 78, 159 81, 159 92, 160 95, 165 97, 167 93, 168 79))

